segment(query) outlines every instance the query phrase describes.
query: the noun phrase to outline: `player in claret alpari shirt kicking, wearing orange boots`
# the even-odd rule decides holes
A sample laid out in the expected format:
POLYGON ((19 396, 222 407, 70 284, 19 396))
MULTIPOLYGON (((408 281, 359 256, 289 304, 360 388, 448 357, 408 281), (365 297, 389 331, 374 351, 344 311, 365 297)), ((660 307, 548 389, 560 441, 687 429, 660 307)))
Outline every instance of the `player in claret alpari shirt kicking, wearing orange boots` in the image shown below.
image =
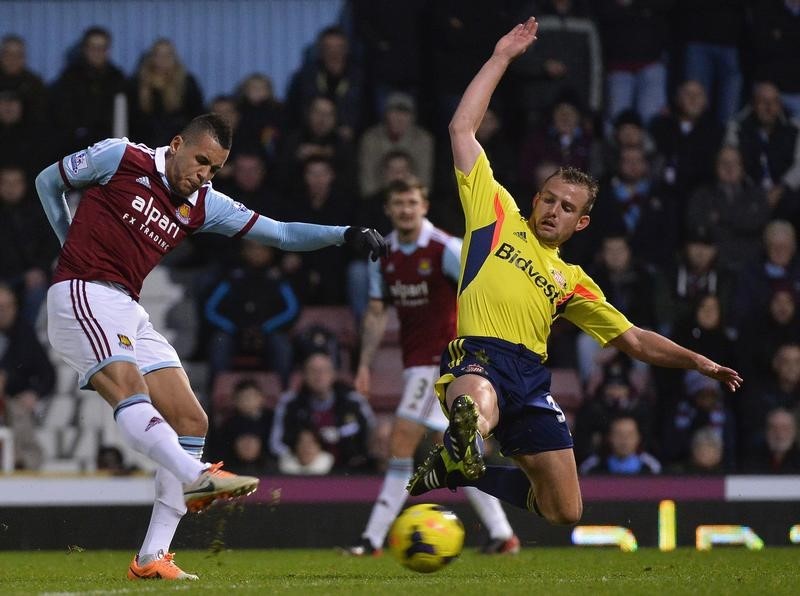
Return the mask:
POLYGON ((68 155, 36 179, 62 244, 47 295, 50 343, 114 408, 125 440, 158 464, 150 526, 128 577, 197 579, 168 553, 187 508, 253 492, 258 479, 202 463, 208 419, 180 360, 153 329, 138 297, 161 258, 195 232, 241 237, 286 250, 348 243, 377 259, 383 238, 366 228, 282 223, 215 191, 232 132, 206 114, 166 147, 107 139, 68 155), (74 220, 64 192, 82 189, 74 220))

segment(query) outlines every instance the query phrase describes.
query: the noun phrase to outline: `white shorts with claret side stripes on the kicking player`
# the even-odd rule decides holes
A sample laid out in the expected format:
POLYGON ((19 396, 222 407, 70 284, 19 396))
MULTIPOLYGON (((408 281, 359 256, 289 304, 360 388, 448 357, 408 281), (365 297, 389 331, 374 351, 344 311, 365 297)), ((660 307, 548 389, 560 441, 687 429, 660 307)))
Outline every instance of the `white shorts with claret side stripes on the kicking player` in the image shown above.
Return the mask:
POLYGON ((78 373, 81 389, 110 362, 131 362, 142 374, 181 366, 178 353, 153 329, 142 306, 116 286, 79 279, 47 292, 47 336, 78 373))

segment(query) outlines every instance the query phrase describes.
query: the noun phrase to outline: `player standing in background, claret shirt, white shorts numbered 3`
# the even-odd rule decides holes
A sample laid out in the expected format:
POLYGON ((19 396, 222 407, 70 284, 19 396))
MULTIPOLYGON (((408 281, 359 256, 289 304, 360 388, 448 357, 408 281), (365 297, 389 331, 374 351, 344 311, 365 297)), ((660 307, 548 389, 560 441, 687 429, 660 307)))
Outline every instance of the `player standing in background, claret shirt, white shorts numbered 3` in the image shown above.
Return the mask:
MULTIPOLYGON (((456 282, 461 240, 434 227, 426 218, 427 190, 419 182, 396 181, 386 192, 386 214, 394 228, 386 237, 389 254, 370 263, 370 302, 364 316, 356 389, 369 395, 370 363, 386 329, 386 305, 400 319, 403 353, 403 395, 390 438, 389 467, 372 507, 361 541, 347 549, 352 555, 377 554, 389 526, 408 494, 414 451, 428 429, 442 432, 442 413, 433 382, 438 377, 442 349, 455 335, 456 282)), ((517 552, 519 539, 498 500, 475 488, 467 496, 489 531, 486 553, 517 552)))

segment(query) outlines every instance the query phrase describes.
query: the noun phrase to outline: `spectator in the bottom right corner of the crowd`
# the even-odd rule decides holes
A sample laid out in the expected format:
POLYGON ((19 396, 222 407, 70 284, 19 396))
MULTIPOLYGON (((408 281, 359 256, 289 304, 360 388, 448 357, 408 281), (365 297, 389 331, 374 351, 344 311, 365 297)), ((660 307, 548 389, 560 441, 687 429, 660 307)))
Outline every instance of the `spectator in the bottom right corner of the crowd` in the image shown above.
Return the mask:
POLYGON ((764 441, 745 458, 747 474, 800 474, 800 448, 797 445, 797 419, 786 408, 767 413, 764 441))

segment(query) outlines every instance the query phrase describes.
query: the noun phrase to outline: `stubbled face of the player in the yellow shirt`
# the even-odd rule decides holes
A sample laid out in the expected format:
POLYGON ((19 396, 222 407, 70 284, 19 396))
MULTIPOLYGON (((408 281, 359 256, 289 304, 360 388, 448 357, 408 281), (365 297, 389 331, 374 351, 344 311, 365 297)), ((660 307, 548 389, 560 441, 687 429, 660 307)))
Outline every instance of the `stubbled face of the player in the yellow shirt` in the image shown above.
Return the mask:
POLYGON ((586 189, 551 178, 533 198, 530 224, 537 238, 547 246, 561 245, 572 234, 589 225, 583 209, 589 200, 586 189))

